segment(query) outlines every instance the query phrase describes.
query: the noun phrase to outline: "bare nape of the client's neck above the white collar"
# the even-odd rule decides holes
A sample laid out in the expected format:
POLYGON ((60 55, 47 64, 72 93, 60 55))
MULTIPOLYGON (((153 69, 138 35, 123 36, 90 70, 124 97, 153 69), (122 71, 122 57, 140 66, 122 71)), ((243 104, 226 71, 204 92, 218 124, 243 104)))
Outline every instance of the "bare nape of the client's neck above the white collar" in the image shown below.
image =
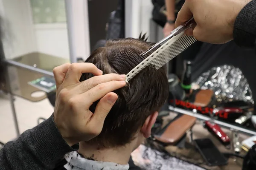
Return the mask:
POLYGON ((127 144, 123 147, 100 148, 85 142, 79 143, 78 152, 86 159, 95 161, 114 162, 117 164, 128 164, 131 152, 133 151, 132 144, 127 144))

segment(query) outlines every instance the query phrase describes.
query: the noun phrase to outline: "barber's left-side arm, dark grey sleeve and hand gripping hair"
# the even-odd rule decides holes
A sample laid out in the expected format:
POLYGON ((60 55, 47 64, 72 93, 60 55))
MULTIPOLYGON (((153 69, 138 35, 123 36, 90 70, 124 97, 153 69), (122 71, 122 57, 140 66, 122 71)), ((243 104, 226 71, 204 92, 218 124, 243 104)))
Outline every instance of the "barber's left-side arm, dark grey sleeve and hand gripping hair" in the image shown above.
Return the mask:
MULTIPOLYGON (((111 91, 125 85, 125 76, 102 75, 91 63, 64 64, 54 69, 57 86, 55 111, 52 116, 0 150, 0 170, 46 170, 72 146, 97 136, 105 117, 116 102, 111 91), (92 77, 79 82, 82 73, 92 77), (100 99, 95 113, 90 105, 100 99)), ((29 108, 28 108, 29 109, 29 108)))

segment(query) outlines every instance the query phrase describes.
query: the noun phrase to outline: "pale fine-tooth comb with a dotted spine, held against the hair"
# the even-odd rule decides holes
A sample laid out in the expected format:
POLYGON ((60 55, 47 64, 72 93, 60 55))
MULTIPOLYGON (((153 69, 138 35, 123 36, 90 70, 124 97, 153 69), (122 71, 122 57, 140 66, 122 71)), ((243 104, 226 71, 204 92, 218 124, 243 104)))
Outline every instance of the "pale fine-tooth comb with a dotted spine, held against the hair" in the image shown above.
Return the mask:
POLYGON ((168 40, 160 48, 154 51, 150 56, 143 60, 139 65, 132 69, 126 75, 126 82, 134 78, 140 71, 142 71, 148 65, 155 66, 156 70, 163 67, 167 62, 172 60, 174 57, 182 53, 186 48, 189 48, 194 42, 195 37, 183 35, 180 33, 175 37, 168 40))

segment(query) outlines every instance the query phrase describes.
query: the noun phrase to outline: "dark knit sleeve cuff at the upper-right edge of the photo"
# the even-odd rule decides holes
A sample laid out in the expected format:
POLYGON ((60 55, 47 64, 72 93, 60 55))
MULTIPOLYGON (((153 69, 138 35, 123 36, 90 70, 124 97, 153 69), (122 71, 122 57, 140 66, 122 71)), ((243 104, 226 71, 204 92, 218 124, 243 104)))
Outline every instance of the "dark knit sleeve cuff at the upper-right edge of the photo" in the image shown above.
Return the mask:
POLYGON ((241 47, 256 48, 256 0, 252 0, 239 12, 233 37, 241 47))

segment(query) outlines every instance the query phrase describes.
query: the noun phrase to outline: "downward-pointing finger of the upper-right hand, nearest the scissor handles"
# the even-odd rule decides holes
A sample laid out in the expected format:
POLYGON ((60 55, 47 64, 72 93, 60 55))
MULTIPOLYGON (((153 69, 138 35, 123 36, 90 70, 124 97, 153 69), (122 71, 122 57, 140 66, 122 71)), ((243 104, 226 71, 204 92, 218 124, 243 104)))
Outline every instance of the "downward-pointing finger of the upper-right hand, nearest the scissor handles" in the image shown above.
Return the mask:
POLYGON ((193 14, 190 11, 188 2, 185 1, 185 3, 183 4, 182 8, 178 12, 177 19, 175 21, 175 28, 177 28, 180 25, 183 25, 191 17, 193 17, 193 14))

